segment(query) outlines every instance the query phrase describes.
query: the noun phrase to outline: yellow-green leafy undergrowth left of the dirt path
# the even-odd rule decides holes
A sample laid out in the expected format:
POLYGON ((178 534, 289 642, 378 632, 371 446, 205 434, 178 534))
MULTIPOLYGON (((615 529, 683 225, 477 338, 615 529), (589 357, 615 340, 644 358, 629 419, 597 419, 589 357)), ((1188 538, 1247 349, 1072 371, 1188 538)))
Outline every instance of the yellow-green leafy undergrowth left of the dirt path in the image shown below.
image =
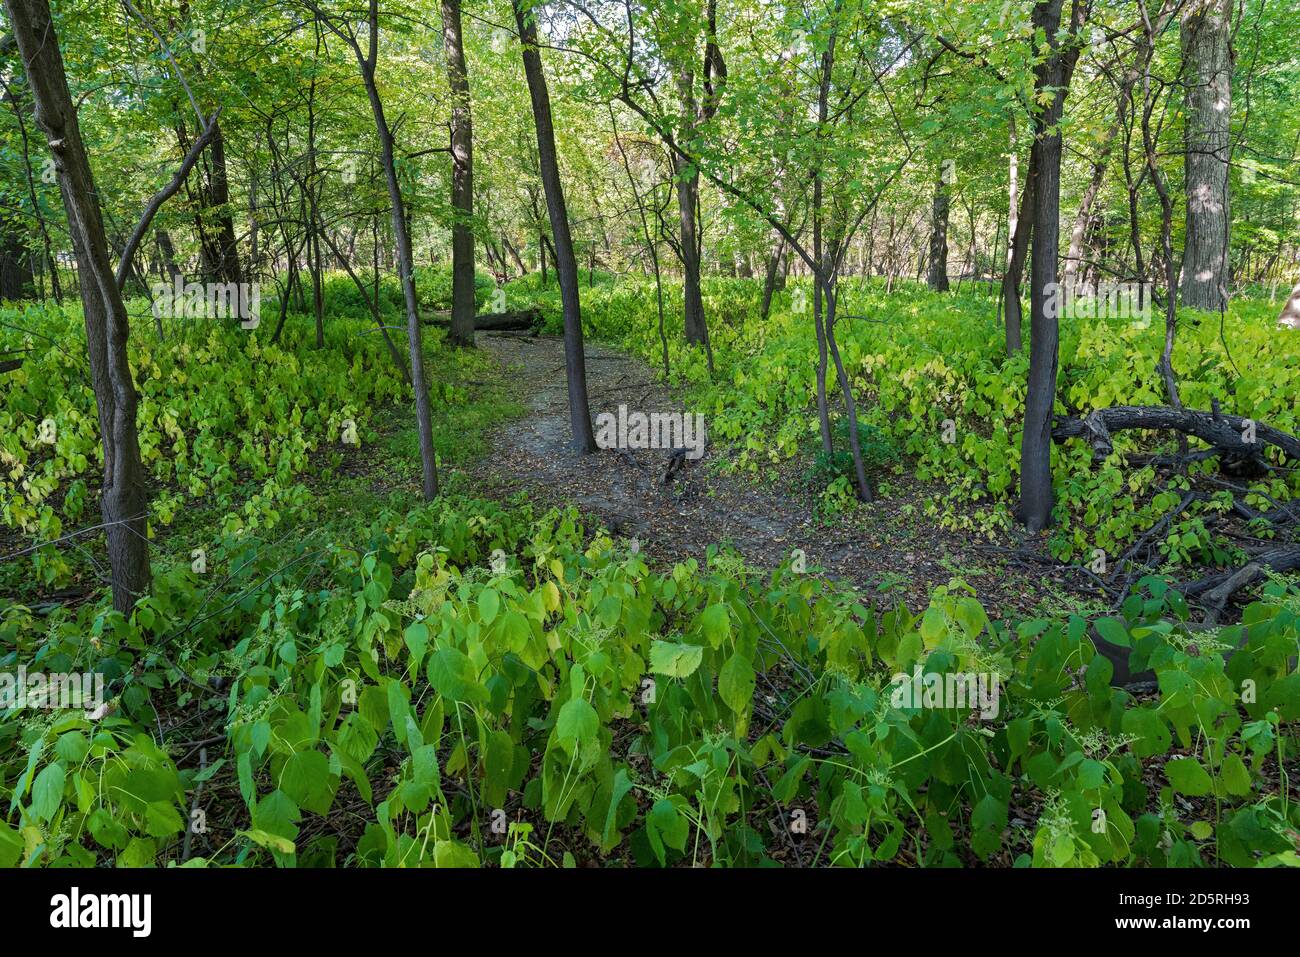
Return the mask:
MULTIPOLYGON (((278 345, 270 321, 248 332, 192 320, 160 342, 151 322, 136 319, 131 368, 152 537, 179 533, 196 549, 207 547, 211 528, 272 529, 287 507, 308 501, 307 475, 347 472, 360 450, 391 432, 395 410, 410 417, 407 386, 373 324, 348 317, 364 315, 364 304, 343 295, 338 277, 328 290, 332 308, 358 311, 332 315, 318 350, 306 334, 308 316, 291 315, 278 345)), ((0 554, 8 554, 98 524, 103 449, 79 308, 47 303, 3 315, 10 345, 34 350, 5 376, 0 398, 0 554)), ((459 460, 480 451, 485 428, 515 407, 484 356, 442 348, 433 329, 425 345, 436 450, 442 462, 459 460)), ((413 430, 387 441, 416 459, 413 430)), ((30 596, 34 584, 75 586, 91 575, 72 537, 6 563, 0 593, 30 596)))

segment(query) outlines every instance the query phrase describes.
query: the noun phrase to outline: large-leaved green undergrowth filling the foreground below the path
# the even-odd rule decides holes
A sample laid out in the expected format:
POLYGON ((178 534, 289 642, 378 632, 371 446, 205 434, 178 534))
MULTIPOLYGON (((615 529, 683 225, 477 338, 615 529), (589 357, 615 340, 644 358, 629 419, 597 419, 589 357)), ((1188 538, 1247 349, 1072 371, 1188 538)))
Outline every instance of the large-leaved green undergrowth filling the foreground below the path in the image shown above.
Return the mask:
POLYGON ((1138 700, 1084 619, 994 623, 959 583, 916 616, 723 553, 650 568, 573 511, 370 514, 225 536, 129 618, 0 614, 6 664, 112 697, 4 715, 0 866, 1300 865, 1280 583, 1212 633, 1140 583, 1096 623, 1154 668, 1138 700))

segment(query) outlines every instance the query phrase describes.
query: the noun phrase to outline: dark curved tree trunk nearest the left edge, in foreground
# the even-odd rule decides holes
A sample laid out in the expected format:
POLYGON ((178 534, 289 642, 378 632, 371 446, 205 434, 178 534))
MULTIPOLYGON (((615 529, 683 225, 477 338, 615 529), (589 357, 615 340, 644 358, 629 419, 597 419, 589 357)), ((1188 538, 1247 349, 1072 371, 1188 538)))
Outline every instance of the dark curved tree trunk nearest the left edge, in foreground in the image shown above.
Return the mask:
POLYGON ((91 386, 104 446, 100 507, 108 538, 113 607, 126 614, 148 590, 150 554, 135 385, 126 356, 129 322, 118 293, 90 160, 68 90, 64 59, 47 0, 5 0, 36 104, 36 125, 49 142, 68 231, 81 270, 91 386))

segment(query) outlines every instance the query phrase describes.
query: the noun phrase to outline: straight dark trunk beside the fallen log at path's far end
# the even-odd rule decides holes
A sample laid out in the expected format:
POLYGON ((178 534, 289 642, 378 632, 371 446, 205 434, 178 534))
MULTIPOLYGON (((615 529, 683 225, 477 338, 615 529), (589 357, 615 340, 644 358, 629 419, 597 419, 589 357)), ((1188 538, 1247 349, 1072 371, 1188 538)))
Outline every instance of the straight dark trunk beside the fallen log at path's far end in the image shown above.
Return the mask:
POLYGON ((460 0, 442 0, 442 46, 451 90, 451 332, 454 346, 474 345, 473 124, 469 75, 460 33, 460 0))

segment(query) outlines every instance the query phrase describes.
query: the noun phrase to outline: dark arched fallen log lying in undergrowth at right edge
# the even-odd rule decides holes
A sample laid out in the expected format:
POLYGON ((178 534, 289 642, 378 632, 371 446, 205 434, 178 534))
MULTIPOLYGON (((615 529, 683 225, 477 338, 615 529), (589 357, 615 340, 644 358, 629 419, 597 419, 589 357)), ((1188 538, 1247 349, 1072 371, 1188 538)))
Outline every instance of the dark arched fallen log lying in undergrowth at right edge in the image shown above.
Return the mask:
POLYGON ((1169 406, 1112 406, 1084 416, 1058 416, 1052 438, 1086 438, 1092 445, 1092 458, 1101 462, 1114 450, 1110 433, 1123 429, 1152 429, 1180 432, 1214 446, 1219 452, 1238 456, 1258 456, 1264 446, 1273 446, 1288 458, 1300 462, 1300 438, 1271 425, 1240 415, 1210 412, 1169 406))

